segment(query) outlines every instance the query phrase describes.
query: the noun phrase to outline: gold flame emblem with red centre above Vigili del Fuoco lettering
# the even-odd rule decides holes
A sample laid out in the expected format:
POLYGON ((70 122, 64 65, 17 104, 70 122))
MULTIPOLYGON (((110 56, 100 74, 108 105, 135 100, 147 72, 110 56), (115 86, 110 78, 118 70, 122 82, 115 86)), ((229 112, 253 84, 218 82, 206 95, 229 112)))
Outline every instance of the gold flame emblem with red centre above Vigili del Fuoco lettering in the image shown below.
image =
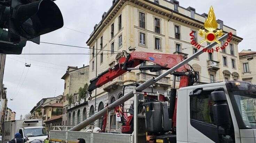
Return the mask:
POLYGON ((221 37, 223 35, 223 30, 216 30, 218 28, 218 24, 216 21, 216 17, 214 14, 214 9, 211 6, 210 11, 208 14, 208 18, 204 22, 204 29, 199 29, 200 33, 199 35, 203 37, 204 39, 200 41, 200 43, 204 43, 205 41, 212 43, 217 42, 218 44, 221 44, 217 38, 221 37))

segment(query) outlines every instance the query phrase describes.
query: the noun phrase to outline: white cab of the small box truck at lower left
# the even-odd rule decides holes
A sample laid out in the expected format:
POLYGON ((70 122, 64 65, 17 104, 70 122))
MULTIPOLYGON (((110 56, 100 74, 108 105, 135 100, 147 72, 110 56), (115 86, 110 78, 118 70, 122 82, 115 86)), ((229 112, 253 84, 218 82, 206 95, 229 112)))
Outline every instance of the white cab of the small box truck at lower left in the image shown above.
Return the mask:
POLYGON ((28 137, 29 141, 35 139, 44 141, 48 137, 45 127, 42 126, 20 127, 18 133, 20 133, 23 138, 28 137))

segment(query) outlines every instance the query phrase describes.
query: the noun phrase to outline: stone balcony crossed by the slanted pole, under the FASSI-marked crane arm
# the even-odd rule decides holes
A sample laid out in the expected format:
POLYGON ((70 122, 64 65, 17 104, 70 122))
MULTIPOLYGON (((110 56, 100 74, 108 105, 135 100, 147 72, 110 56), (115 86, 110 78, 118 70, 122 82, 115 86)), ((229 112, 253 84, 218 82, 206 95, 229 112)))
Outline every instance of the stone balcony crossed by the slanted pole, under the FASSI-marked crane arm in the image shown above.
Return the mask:
MULTIPOLYGON (((156 78, 157 75, 149 74, 149 73, 137 73, 137 82, 143 83, 153 77, 156 78)), ((159 80, 158 82, 156 82, 153 86, 163 87, 164 89, 168 89, 171 86, 170 78, 164 77, 161 80, 159 80)))

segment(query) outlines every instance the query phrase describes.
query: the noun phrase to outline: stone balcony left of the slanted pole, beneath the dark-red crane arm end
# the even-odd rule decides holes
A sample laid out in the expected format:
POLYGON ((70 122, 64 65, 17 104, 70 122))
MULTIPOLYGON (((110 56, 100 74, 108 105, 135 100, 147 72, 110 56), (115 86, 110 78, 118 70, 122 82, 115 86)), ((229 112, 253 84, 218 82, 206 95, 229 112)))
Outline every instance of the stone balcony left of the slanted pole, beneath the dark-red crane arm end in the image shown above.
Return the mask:
POLYGON ((123 86, 123 75, 115 78, 114 80, 103 85, 103 90, 110 92, 111 90, 116 90, 118 86, 123 86))

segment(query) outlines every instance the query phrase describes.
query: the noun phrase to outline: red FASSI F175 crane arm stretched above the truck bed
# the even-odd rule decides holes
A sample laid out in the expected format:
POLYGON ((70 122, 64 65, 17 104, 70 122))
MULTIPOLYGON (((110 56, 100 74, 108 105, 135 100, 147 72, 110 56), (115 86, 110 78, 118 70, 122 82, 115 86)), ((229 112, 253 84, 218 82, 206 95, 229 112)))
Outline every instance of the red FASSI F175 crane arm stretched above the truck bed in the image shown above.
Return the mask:
MULTIPOLYGON (((112 81, 118 76, 126 73, 127 68, 135 68, 143 61, 150 61, 155 63, 156 65, 162 66, 164 69, 170 69, 174 65, 177 65, 184 58, 182 55, 173 55, 173 54, 162 54, 162 53, 146 53, 146 52, 132 52, 127 54, 126 57, 121 57, 119 59, 119 63, 114 67, 109 68, 103 73, 99 74, 98 77, 92 79, 90 81, 90 85, 88 87, 89 93, 91 93, 94 89, 103 86, 104 84, 112 81)), ((186 72, 189 67, 187 64, 181 66, 177 72, 186 72)))

